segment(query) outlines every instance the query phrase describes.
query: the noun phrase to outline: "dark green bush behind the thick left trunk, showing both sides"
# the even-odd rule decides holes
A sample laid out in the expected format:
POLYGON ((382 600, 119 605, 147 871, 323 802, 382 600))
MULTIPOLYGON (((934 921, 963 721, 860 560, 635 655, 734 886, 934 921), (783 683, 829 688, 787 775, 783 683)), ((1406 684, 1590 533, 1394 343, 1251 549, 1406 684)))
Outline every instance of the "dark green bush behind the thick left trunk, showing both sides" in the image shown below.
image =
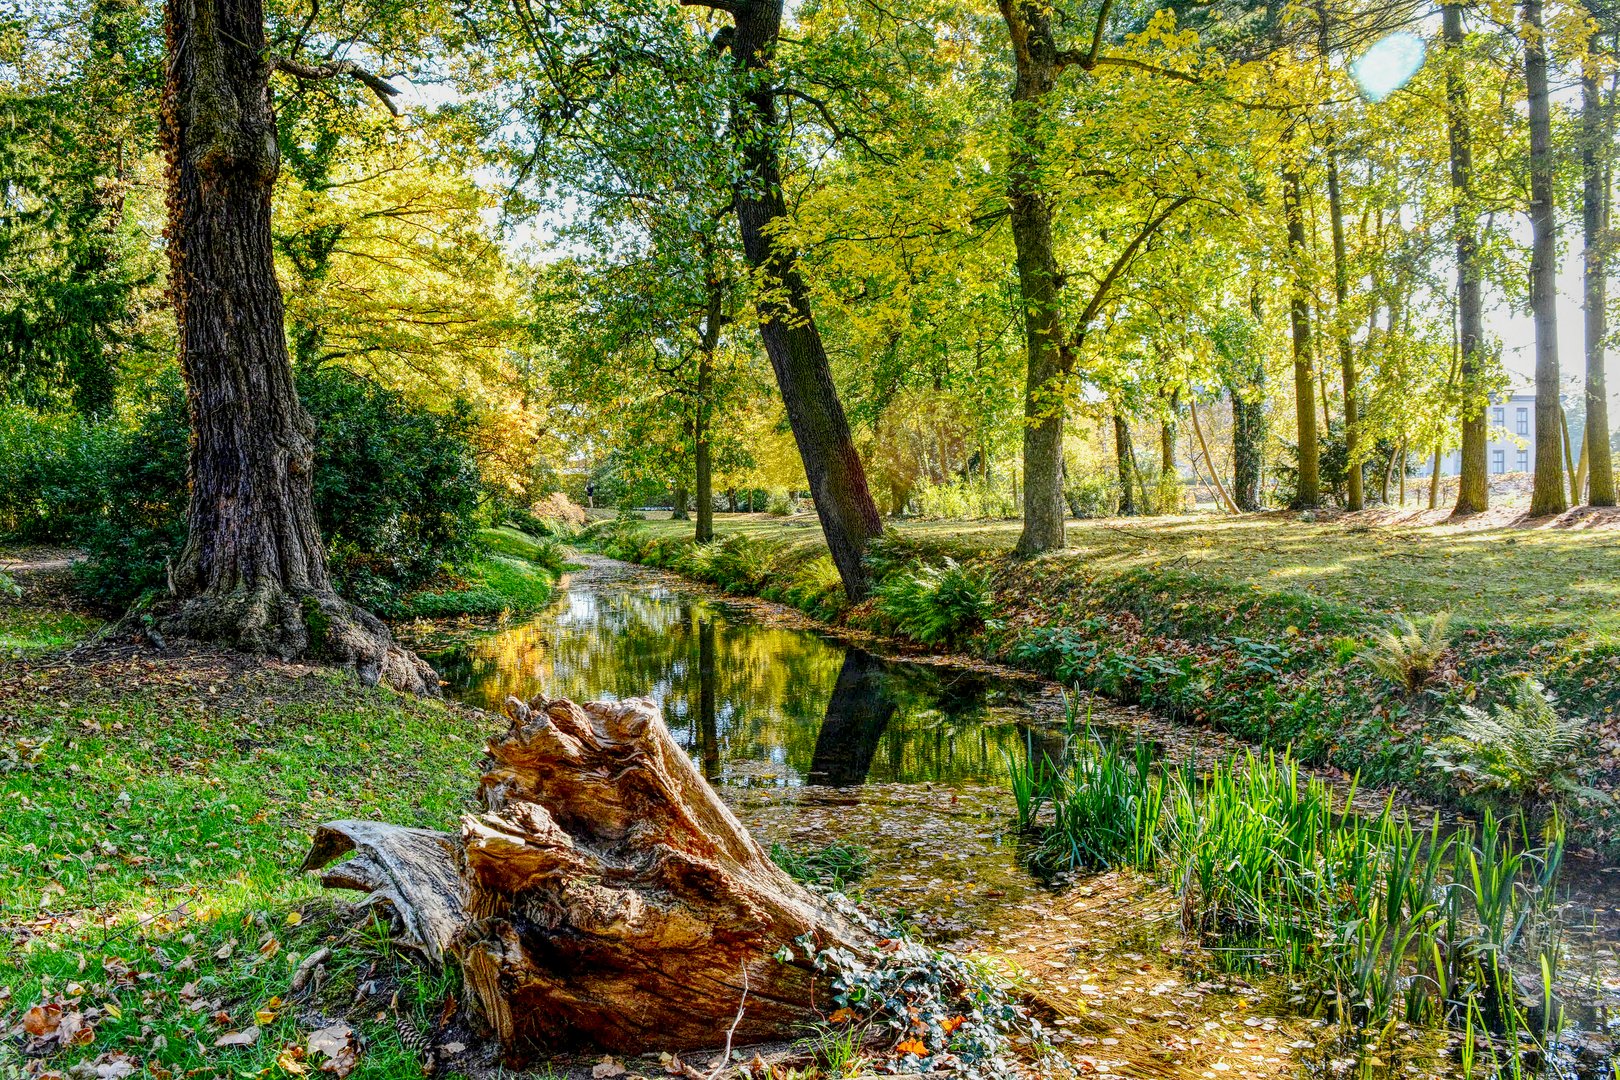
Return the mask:
MULTIPOLYGON (((314 507, 334 580, 345 596, 387 610, 471 549, 471 419, 460 408, 429 413, 340 371, 305 376, 300 390, 316 423, 314 507)), ((185 541, 185 397, 164 384, 154 398, 97 470, 105 513, 79 534, 91 552, 83 585, 113 606, 162 585, 185 541)))

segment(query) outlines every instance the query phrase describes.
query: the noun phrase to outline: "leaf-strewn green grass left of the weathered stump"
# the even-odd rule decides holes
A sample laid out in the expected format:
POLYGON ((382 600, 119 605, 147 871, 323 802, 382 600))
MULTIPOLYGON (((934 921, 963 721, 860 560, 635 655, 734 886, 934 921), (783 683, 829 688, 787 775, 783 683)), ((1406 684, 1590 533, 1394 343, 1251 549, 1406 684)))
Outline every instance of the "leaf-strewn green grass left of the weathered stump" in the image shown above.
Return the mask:
MULTIPOLYGON (((314 1009, 353 1014, 356 1077, 420 1075, 376 1014, 397 988, 421 1023, 450 983, 395 955, 298 865, 332 818, 454 827, 488 717, 335 674, 191 661, 13 664, 0 687, 13 688, 0 701, 0 1022, 58 996, 94 1018, 89 1043, 49 1067, 122 1051, 152 1077, 254 1075, 303 1044, 298 1014, 314 1009), (319 997, 275 1007, 322 944, 334 959, 319 997), (384 993, 355 1006, 366 972, 384 993), (249 1025, 254 1046, 215 1048, 249 1025)), ((19 1069, 18 1043, 0 1044, 0 1075, 19 1069)))

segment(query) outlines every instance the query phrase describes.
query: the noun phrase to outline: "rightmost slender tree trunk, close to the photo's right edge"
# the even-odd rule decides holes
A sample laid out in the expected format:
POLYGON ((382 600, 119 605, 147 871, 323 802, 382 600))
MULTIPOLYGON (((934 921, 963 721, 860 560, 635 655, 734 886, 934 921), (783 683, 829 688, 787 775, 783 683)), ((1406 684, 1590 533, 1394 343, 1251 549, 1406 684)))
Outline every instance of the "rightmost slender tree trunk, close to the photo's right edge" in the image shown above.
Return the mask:
MULTIPOLYGON (((1596 39, 1596 34, 1592 36, 1596 39)), ((1591 50, 1591 42, 1588 50, 1591 50)), ((1581 233, 1586 243, 1583 283, 1586 301, 1586 439, 1581 455, 1591 470, 1591 505, 1615 505, 1614 460, 1609 445, 1609 384, 1604 371, 1609 337, 1609 181, 1614 130, 1597 86, 1596 57, 1581 73, 1581 233)))

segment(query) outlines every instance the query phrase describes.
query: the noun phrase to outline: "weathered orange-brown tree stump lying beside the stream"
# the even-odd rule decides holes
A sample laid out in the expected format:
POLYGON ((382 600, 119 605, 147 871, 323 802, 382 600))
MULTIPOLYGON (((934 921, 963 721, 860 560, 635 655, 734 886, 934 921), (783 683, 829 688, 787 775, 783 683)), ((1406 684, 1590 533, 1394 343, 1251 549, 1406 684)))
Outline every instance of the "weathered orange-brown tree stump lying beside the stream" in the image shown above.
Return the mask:
POLYGON ((507 708, 458 837, 334 821, 305 868, 458 963, 510 1061, 763 1041, 820 1015, 831 976, 802 941, 870 934, 766 857, 653 703, 507 708))

